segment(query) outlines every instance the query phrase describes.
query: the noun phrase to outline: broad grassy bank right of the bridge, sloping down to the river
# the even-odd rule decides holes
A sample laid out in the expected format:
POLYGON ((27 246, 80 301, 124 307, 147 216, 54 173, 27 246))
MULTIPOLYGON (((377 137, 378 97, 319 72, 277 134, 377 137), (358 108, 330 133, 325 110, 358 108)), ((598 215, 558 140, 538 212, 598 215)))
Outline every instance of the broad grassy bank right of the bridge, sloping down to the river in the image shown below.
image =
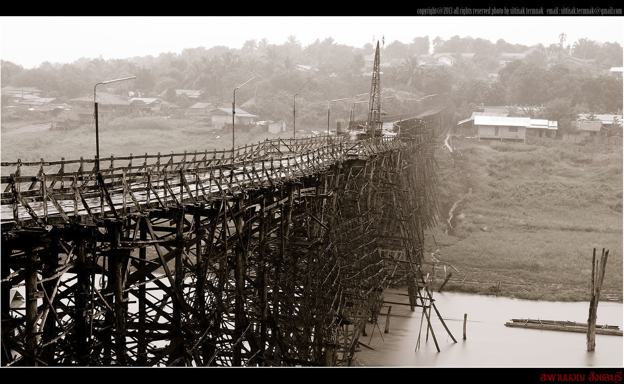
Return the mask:
POLYGON ((602 299, 622 300, 622 148, 553 140, 454 140, 472 180, 440 146, 441 220, 426 233, 434 288, 521 299, 588 300, 592 252, 609 251, 602 299), (451 221, 449 208, 462 198, 451 221), (433 262, 435 261, 435 263, 433 262), (458 272, 459 271, 459 272, 458 272))

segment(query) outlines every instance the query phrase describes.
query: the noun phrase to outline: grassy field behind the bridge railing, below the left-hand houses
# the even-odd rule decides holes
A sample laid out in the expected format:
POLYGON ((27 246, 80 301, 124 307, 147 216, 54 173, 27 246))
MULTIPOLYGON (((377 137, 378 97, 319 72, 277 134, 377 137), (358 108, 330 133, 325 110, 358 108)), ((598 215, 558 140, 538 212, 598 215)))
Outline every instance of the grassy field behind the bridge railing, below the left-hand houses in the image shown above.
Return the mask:
MULTIPOLYGON (((15 128, 2 124, 0 138, 2 161, 77 160, 95 156, 95 124, 73 130, 37 130, 36 127, 15 128)), ((31 127, 36 122, 31 123, 31 127)), ((100 155, 102 157, 155 155, 158 152, 226 150, 232 148, 232 133, 208 129, 202 118, 165 119, 158 117, 116 118, 99 122, 100 155)), ((236 133, 235 145, 273 138, 276 135, 259 130, 236 133)))

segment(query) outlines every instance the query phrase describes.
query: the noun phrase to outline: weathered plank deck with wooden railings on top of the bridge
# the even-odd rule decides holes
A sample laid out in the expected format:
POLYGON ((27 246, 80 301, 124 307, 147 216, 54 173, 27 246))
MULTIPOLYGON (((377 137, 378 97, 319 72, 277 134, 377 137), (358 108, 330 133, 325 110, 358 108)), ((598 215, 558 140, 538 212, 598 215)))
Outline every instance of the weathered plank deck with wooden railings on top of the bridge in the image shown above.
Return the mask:
POLYGON ((119 218, 233 196, 401 146, 394 137, 278 138, 235 148, 233 156, 231 150, 111 156, 100 160, 99 175, 95 159, 3 162, 0 219, 4 230, 119 218))

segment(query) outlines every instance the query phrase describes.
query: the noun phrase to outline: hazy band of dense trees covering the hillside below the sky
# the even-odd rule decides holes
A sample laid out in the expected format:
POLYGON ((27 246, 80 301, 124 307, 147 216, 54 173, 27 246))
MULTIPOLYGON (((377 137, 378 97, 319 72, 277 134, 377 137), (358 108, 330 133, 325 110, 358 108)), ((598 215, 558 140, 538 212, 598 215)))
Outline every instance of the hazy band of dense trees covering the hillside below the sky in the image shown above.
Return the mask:
MULTIPOLYGON (((370 67, 365 66, 364 57, 373 54, 373 44, 349 47, 328 37, 302 47, 296 36, 290 36, 283 44, 249 40, 240 49, 197 47, 180 53, 163 52, 157 57, 109 60, 82 57, 66 64, 44 62, 34 69, 2 60, 0 73, 2 86, 37 87, 46 92, 46 97, 64 102, 92 94, 94 85, 102 80, 134 75, 136 80, 119 83, 116 92, 127 95, 132 90, 141 97, 164 92, 165 100, 180 107, 198 101, 231 103, 233 89, 256 76, 253 83, 236 92, 236 103, 253 100, 246 107, 248 112, 266 120, 286 121, 292 117, 293 95, 308 82, 297 96, 297 119, 303 125, 313 125, 323 120, 329 100, 370 90, 370 67), (303 72, 296 65, 312 70, 303 72), (176 97, 175 89, 201 89, 205 93, 197 100, 176 97)), ((622 110, 622 79, 605 73, 613 66, 622 66, 622 47, 617 42, 578 39, 566 45, 563 33, 558 42, 534 47, 502 39, 493 43, 472 37, 430 40, 424 36, 415 37, 409 44, 394 41, 382 47, 381 87, 383 96, 421 97, 451 92, 460 118, 481 104, 517 105, 523 111, 539 110, 544 118, 567 118, 579 110, 622 110), (524 60, 500 68, 503 52, 526 52, 530 48, 532 52, 524 60), (458 61, 452 67, 419 65, 418 56, 429 52, 449 52, 458 61), (464 62, 460 52, 475 55, 470 62, 464 62), (569 64, 567 57, 592 59, 595 64, 569 64), (556 113, 545 117, 548 110, 556 113)), ((335 108, 345 112, 351 105, 336 103, 335 108)))

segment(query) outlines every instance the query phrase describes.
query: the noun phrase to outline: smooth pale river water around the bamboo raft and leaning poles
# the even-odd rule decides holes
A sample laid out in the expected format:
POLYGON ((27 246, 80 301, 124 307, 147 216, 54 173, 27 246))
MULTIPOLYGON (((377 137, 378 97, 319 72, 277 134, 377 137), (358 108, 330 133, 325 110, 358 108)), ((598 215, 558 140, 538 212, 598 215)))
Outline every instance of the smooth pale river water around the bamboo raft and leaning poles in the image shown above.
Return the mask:
MULTIPOLYGON (((407 303, 404 290, 390 289, 386 301, 407 303)), ((454 343, 434 310, 431 322, 440 351, 429 334, 422 309, 385 304, 378 326, 368 324, 367 336, 358 346, 358 362, 365 367, 623 367, 622 336, 596 335, 596 348, 587 352, 587 334, 505 327, 511 319, 568 320, 587 322, 589 302, 546 302, 509 299, 457 292, 434 292, 444 322, 457 340, 454 343), (388 307, 392 305, 389 332, 384 333, 388 307), (467 314, 466 340, 463 337, 467 314), (374 331, 374 332, 373 332, 374 331)), ((597 324, 622 329, 620 302, 600 302, 597 324)))

